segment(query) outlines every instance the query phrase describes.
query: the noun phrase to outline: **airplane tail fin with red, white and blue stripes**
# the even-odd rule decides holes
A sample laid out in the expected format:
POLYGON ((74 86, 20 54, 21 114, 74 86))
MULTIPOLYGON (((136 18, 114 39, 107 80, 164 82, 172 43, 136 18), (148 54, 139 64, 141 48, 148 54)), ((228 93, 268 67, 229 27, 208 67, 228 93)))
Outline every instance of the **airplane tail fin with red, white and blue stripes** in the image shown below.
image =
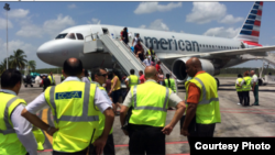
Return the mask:
MULTIPOLYGON (((244 44, 258 46, 263 2, 256 1, 249 13, 240 33, 234 37, 244 44)), ((262 45, 261 45, 262 46, 262 45)))

